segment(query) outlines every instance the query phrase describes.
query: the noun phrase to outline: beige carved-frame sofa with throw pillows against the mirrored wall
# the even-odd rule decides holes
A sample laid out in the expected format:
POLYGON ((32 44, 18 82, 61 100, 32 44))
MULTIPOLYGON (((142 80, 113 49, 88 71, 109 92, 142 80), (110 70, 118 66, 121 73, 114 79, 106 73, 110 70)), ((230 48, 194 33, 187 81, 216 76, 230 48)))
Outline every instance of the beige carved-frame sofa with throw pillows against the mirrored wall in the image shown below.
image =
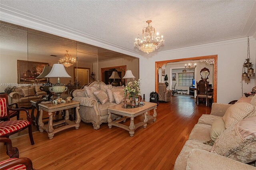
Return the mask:
MULTIPOLYGON (((112 94, 110 94, 111 91, 118 91, 120 94, 122 93, 122 99, 124 98, 124 87, 112 87, 112 85, 106 85, 102 81, 94 81, 83 89, 74 90, 72 93, 72 96, 74 97, 72 100, 80 102, 79 115, 81 120, 86 123, 92 123, 93 128, 96 130, 100 128, 100 124, 108 122, 108 107, 117 105, 117 101, 115 101, 112 94), (95 87, 95 89, 90 91, 89 88, 92 87, 95 87), (105 99, 102 99, 103 102, 98 100, 96 96, 91 94, 95 91, 104 91, 104 95, 106 96, 107 94, 107 99, 106 97, 105 99)), ((97 97, 103 98, 102 96, 97 97)), ((120 104, 120 102, 122 101, 119 101, 118 104, 120 104)), ((116 118, 117 116, 112 114, 112 120, 116 118)))

